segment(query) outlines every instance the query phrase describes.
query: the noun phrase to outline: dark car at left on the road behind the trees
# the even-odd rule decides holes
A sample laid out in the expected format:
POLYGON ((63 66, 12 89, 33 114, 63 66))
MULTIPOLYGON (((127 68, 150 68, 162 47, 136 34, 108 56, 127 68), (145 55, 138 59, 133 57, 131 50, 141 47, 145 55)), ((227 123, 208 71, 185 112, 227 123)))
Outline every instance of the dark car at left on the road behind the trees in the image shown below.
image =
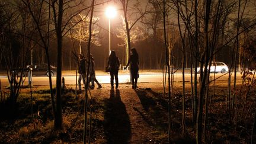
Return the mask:
POLYGON ((57 68, 55 66, 50 65, 50 72, 48 72, 47 63, 41 63, 36 65, 30 65, 28 68, 32 68, 33 75, 55 75, 57 68))

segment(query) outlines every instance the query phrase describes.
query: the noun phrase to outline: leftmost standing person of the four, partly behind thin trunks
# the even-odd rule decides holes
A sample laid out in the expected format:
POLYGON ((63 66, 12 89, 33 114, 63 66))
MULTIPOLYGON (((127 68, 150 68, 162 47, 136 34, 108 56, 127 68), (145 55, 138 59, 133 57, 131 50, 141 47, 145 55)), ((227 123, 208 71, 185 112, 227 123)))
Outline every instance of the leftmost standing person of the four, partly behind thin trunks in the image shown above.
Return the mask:
POLYGON ((81 91, 81 80, 85 84, 85 57, 81 54, 78 55, 78 90, 81 91))

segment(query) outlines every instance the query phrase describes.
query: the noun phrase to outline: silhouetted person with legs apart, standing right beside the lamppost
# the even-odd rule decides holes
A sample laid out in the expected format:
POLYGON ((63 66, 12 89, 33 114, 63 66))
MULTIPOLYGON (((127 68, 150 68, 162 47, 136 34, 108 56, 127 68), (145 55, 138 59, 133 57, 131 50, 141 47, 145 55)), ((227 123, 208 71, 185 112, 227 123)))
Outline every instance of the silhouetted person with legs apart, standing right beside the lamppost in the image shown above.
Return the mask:
POLYGON ((110 84, 111 89, 114 88, 114 79, 116 80, 116 89, 119 87, 118 72, 119 72, 120 60, 116 56, 116 52, 111 50, 110 56, 108 57, 108 68, 110 68, 110 84))

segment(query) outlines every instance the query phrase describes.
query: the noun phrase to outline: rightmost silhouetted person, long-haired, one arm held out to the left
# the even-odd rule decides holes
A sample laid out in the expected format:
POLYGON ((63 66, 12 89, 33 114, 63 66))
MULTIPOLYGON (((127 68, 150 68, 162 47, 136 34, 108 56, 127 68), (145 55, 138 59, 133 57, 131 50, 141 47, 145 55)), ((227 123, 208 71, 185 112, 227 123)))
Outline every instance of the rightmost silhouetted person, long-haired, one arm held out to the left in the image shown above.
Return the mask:
POLYGON ((130 65, 130 73, 132 75, 132 88, 137 88, 137 79, 139 78, 139 55, 134 47, 131 49, 131 51, 132 55, 130 55, 128 63, 124 69, 130 65))

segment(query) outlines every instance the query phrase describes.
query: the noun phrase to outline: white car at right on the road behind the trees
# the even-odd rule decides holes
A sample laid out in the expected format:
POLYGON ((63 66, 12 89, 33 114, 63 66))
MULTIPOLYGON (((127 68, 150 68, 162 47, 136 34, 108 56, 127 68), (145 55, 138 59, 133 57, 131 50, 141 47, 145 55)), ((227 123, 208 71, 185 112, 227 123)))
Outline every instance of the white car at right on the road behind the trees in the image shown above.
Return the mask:
MULTIPOLYGON (((212 62, 212 65, 210 66, 210 72, 225 73, 225 72, 228 72, 228 71, 229 71, 228 66, 223 62, 212 62)), ((200 72, 200 67, 197 68, 197 72, 198 73, 200 72)))

